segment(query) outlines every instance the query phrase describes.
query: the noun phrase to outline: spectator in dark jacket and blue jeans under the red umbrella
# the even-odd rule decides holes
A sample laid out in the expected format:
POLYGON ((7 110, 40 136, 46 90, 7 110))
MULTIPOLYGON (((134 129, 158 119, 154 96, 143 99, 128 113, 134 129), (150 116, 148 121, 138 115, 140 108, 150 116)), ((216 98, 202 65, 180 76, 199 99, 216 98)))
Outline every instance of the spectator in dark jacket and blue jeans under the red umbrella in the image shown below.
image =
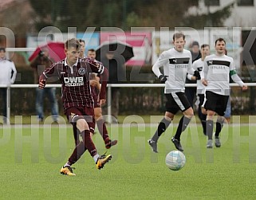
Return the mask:
MULTIPOLYGON (((41 49, 41 52, 38 53, 37 57, 33 61, 31 61, 30 66, 34 69, 34 83, 38 84, 39 75, 47 68, 52 65, 52 61, 49 59, 49 51, 48 49, 41 49)), ((51 104, 51 112, 53 121, 57 122, 58 117, 58 104, 55 96, 56 88, 44 88, 39 89, 36 88, 36 112, 38 116, 38 120, 42 122, 44 120, 44 96, 45 93, 48 94, 49 103, 51 104)))

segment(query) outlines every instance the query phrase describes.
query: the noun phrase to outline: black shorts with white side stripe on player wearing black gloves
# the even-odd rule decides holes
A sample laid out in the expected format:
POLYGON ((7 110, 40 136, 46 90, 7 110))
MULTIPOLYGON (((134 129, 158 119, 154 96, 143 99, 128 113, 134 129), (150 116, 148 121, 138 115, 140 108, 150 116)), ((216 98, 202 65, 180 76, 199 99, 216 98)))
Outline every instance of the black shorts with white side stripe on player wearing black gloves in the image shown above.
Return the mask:
POLYGON ((171 92, 165 94, 167 102, 165 108, 167 112, 176 114, 178 111, 186 111, 188 108, 191 108, 191 104, 187 100, 187 96, 184 92, 171 92))

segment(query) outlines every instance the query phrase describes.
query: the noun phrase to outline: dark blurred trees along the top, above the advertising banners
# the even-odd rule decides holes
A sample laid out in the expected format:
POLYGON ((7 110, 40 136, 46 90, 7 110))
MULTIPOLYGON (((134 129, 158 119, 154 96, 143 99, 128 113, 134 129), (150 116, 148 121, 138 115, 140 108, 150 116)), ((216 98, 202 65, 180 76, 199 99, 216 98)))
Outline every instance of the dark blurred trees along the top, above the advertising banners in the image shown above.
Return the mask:
POLYGON ((211 16, 207 14, 187 14, 189 8, 199 6, 200 0, 30 0, 34 10, 36 31, 47 25, 53 25, 66 31, 68 27, 77 27, 84 31, 86 27, 169 27, 190 26, 203 29, 209 17, 213 25, 222 25, 230 16, 232 5, 217 10, 211 16), (186 5, 186 6, 184 6, 186 5), (220 18, 221 16, 221 18, 220 18))

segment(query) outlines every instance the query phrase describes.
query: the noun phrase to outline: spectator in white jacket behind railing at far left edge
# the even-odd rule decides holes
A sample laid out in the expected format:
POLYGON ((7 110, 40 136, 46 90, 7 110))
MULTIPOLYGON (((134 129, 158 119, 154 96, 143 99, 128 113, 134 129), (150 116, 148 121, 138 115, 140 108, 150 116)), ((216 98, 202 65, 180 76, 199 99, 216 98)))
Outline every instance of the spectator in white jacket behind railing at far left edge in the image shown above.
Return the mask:
MULTIPOLYGON (((16 74, 17 70, 15 68, 14 62, 6 59, 6 49, 4 47, 0 47, 0 84, 14 84, 16 74)), ((3 124, 7 124, 7 88, 0 88, 0 92, 2 96, 3 124)))

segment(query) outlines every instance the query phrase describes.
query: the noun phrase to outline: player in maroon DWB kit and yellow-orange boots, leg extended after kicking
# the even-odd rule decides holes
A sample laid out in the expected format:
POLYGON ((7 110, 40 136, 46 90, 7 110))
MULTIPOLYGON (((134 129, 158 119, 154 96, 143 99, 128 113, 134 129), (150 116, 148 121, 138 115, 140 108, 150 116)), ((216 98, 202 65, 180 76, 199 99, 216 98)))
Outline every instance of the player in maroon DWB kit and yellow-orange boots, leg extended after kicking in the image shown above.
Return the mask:
POLYGON ((61 92, 64 113, 71 124, 76 124, 81 133, 82 141, 77 144, 69 160, 61 168, 62 175, 75 175, 74 163, 80 159, 81 155, 88 149, 93 157, 96 168, 101 169, 105 163, 112 159, 112 155, 99 155, 91 139, 94 131, 95 120, 93 111, 93 96, 89 85, 89 74, 99 73, 101 80, 100 105, 105 103, 106 85, 108 80, 108 70, 99 62, 91 59, 80 59, 81 45, 77 39, 69 39, 65 42, 66 58, 53 64, 46 69, 39 77, 39 88, 45 87, 45 80, 56 76, 61 80, 61 92))

